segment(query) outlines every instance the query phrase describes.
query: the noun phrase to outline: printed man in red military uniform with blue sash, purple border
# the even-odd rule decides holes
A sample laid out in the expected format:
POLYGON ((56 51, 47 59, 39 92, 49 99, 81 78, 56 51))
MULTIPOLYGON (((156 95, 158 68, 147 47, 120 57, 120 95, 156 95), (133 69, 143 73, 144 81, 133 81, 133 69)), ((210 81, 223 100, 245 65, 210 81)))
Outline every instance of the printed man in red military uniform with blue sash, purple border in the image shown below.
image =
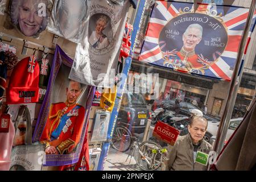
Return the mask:
POLYGON ((46 154, 71 154, 79 143, 85 109, 77 105, 82 93, 79 82, 69 81, 67 101, 52 104, 40 141, 46 143, 46 154))

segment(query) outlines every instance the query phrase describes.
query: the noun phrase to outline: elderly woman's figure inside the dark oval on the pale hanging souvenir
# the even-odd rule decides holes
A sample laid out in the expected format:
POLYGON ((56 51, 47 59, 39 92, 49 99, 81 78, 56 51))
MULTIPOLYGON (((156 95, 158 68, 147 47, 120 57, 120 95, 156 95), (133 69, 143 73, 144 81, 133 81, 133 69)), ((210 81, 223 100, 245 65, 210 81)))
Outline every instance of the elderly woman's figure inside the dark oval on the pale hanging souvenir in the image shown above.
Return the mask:
POLYGON ((103 49, 109 46, 109 40, 102 32, 106 28, 108 20, 109 18, 106 15, 101 15, 97 20, 95 31, 92 32, 89 38, 89 43, 92 47, 96 49, 103 49))

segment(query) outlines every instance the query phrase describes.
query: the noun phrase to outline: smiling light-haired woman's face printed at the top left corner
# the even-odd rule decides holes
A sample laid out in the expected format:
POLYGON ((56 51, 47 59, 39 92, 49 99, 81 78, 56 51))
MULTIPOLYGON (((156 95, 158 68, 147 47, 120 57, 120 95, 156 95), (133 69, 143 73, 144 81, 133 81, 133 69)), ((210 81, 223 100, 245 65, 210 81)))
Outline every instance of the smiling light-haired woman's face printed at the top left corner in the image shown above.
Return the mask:
POLYGON ((34 36, 47 27, 47 0, 13 0, 11 22, 26 36, 34 36))

